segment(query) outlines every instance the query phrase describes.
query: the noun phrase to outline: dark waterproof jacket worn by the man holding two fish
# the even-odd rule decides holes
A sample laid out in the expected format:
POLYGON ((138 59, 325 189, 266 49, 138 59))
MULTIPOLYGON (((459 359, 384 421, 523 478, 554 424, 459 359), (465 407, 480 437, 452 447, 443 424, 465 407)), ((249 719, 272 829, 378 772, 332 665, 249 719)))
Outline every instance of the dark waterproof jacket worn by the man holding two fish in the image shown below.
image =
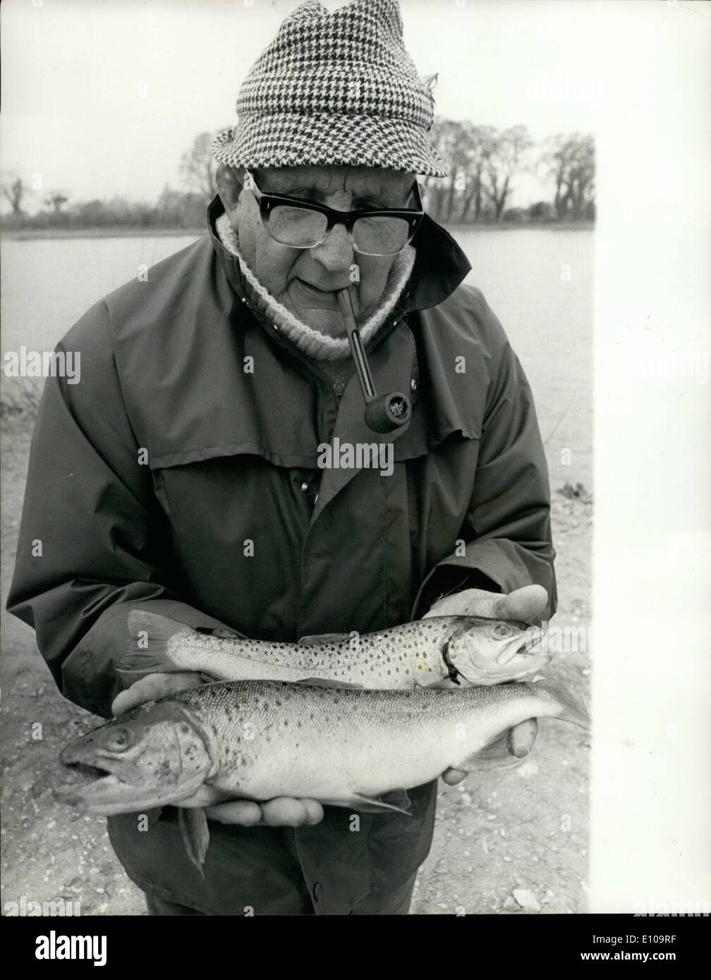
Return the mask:
MULTIPOLYGON (((426 219, 410 288, 369 352, 376 389, 412 396, 375 437, 357 378, 334 382, 245 300, 210 234, 92 307, 60 349, 34 429, 8 607, 63 694, 110 716, 137 607, 248 636, 394 626, 455 588, 542 585, 555 609, 543 450, 524 372, 469 263, 426 219), (252 359, 252 360, 249 360, 252 359), (394 472, 320 469, 320 443, 394 443, 394 472), (147 452, 146 452, 147 451, 147 452), (41 557, 33 542, 41 542, 41 557)), ((379 911, 427 857, 436 785, 412 815, 327 808, 313 827, 211 823, 201 880, 176 810, 112 817, 146 891, 206 912, 379 911)))

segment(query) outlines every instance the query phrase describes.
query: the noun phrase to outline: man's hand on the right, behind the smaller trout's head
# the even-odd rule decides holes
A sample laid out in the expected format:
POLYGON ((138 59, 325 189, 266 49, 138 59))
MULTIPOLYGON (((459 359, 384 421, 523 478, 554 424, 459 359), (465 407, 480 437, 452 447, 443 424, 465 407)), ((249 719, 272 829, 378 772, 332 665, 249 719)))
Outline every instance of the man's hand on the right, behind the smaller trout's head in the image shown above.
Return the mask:
MULTIPOLYGON (((453 596, 444 596, 434 603, 429 613, 432 615, 482 615, 495 619, 518 619, 521 622, 534 622, 540 618, 548 604, 548 595, 541 585, 525 585, 509 595, 498 592, 485 592, 483 589, 465 589, 453 596)), ((523 759, 533 749, 538 731, 535 718, 522 721, 509 731, 509 752, 523 759)), ((442 779, 450 786, 461 783, 468 773, 462 769, 446 769, 442 779)))

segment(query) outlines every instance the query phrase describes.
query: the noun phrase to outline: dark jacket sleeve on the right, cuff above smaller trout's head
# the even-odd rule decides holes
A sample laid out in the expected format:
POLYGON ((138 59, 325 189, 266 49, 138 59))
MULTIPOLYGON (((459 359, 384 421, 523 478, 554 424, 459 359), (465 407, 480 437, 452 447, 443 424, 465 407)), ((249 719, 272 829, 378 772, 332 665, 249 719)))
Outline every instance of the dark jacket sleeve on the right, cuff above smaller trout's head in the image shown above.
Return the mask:
MULTIPOLYGON (((483 300, 482 300, 483 302, 483 300)), ((508 593, 542 585, 555 613, 557 590, 550 528, 548 467, 531 387, 498 320, 484 303, 498 349, 489 385, 469 512, 460 531, 464 554, 436 564, 418 594, 413 617, 442 595, 468 588, 508 593)))

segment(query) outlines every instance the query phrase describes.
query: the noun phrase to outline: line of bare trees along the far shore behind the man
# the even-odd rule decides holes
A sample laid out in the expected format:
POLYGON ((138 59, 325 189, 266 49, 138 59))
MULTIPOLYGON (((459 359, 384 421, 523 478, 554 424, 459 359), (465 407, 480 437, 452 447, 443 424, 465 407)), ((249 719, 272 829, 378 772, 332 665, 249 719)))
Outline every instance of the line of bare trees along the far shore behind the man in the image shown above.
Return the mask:
MULTIPOLYGON (((72 201, 65 189, 42 192, 17 173, 0 179, 10 204, 2 217, 8 230, 88 227, 202 229, 206 203, 216 193, 216 164, 210 156, 212 132, 199 133, 180 161, 183 189, 166 184, 154 204, 110 200, 72 201), (36 214, 26 211, 39 199, 36 214)), ((443 223, 542 223, 593 221, 595 217, 595 148, 592 136, 565 133, 535 144, 523 125, 493 126, 437 117, 432 143, 447 161, 450 174, 425 177, 424 203, 443 223), (533 175, 550 187, 550 199, 528 208, 511 207, 517 180, 533 175)))

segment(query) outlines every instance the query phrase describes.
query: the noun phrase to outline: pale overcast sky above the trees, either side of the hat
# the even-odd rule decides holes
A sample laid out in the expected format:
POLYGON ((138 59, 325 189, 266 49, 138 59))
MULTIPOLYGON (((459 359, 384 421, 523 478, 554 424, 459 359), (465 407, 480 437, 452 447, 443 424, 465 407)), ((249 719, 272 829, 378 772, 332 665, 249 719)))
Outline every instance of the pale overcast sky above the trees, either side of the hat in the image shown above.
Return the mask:
MULTIPOLYGON (((436 111, 594 131, 623 0, 402 0, 436 111)), ((0 167, 73 200, 154 199, 193 137, 234 121, 240 81, 298 0, 4 0, 0 167)), ((326 0, 330 9, 342 0, 326 0)), ((624 3, 623 3, 624 6, 624 3)), ((535 196, 519 180, 520 198, 535 196)), ((514 202, 516 203, 516 198, 514 202)), ((522 200, 522 203, 523 200, 522 200)))

